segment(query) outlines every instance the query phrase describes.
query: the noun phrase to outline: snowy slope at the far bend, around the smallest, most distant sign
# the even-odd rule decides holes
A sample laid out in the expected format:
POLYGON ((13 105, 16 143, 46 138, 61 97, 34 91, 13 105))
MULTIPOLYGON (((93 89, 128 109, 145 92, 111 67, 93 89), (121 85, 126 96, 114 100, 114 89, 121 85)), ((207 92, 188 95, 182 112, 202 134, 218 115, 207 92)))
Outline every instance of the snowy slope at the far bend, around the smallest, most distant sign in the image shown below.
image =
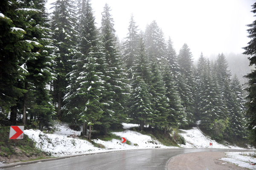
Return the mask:
POLYGON ((182 133, 179 133, 186 141, 186 144, 181 144, 181 147, 191 148, 232 148, 232 149, 244 149, 236 146, 224 146, 223 144, 217 143, 215 140, 210 139, 208 136, 205 136, 198 127, 193 127, 190 130, 182 130, 182 133), (210 146, 212 143, 212 147, 210 146))

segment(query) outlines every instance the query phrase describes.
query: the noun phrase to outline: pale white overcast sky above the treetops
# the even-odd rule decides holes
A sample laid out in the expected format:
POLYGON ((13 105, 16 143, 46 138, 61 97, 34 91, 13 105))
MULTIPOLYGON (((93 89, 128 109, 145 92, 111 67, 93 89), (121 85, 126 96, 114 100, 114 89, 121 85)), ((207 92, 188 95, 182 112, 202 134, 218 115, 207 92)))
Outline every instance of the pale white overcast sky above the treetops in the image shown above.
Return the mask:
POLYGON ((91 3, 97 26, 108 3, 120 40, 128 33, 133 13, 141 30, 145 31, 145 26, 156 20, 166 40, 171 37, 176 52, 186 43, 194 58, 201 52, 206 57, 222 52, 242 53, 242 47, 250 40, 246 25, 255 20, 250 12, 254 0, 91 0, 91 3))

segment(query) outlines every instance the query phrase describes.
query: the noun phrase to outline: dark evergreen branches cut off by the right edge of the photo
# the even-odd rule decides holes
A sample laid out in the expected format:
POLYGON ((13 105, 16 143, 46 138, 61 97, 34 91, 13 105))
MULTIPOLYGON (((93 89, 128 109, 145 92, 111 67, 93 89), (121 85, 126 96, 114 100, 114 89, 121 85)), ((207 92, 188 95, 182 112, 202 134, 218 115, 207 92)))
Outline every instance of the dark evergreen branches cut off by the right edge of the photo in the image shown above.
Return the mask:
MULTIPOLYGON (((256 3, 252 5, 252 12, 255 14, 256 13, 256 3)), ((247 29, 247 32, 249 33, 249 38, 251 39, 250 42, 248 42, 247 46, 244 47, 244 53, 250 55, 248 57, 250 61, 250 66, 256 64, 256 20, 253 21, 253 23, 247 25, 250 27, 247 29)), ((250 139, 251 142, 256 145, 256 70, 253 70, 251 73, 247 74, 245 76, 248 78, 248 87, 246 88, 246 91, 249 93, 247 96, 247 111, 246 111, 246 116, 247 116, 247 121, 248 121, 248 129, 251 131, 250 134, 250 139)))

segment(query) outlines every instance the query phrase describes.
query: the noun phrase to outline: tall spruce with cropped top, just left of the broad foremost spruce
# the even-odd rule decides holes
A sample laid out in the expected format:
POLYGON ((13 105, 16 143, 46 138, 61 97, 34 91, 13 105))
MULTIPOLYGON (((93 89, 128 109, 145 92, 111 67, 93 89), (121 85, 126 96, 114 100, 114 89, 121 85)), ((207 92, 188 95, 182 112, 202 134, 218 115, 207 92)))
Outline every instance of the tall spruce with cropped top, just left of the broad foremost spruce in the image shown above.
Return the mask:
POLYGON ((66 94, 67 74, 72 70, 70 59, 73 58, 76 50, 76 11, 74 2, 70 0, 57 0, 54 8, 51 29, 54 45, 58 48, 55 52, 55 73, 57 77, 53 82, 53 100, 58 103, 58 119, 61 119, 63 107, 63 96, 66 94))

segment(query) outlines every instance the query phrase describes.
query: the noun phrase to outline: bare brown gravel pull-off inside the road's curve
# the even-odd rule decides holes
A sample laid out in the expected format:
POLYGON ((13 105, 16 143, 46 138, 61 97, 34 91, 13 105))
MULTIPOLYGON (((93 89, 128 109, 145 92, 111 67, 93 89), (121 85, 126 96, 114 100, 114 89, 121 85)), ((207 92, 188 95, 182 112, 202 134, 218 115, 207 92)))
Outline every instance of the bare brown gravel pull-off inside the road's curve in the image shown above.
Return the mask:
POLYGON ((219 160, 226 157, 223 152, 187 153, 173 157, 167 170, 247 170, 219 160))

